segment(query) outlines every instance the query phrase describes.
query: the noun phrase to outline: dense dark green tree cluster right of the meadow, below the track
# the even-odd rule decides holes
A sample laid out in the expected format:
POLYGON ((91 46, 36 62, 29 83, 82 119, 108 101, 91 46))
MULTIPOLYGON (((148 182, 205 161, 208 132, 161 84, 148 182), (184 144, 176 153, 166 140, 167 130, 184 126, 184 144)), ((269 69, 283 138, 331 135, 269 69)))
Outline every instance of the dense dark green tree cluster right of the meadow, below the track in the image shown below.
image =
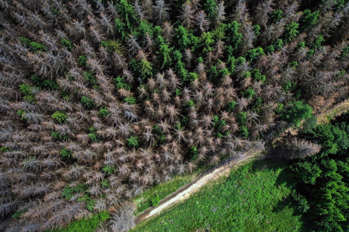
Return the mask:
POLYGON ((291 142, 297 147, 295 153, 305 157, 291 169, 297 180, 298 208, 304 213, 308 231, 344 232, 349 228, 348 119, 349 112, 300 134, 303 143, 291 142), (309 152, 314 155, 307 157, 309 152))

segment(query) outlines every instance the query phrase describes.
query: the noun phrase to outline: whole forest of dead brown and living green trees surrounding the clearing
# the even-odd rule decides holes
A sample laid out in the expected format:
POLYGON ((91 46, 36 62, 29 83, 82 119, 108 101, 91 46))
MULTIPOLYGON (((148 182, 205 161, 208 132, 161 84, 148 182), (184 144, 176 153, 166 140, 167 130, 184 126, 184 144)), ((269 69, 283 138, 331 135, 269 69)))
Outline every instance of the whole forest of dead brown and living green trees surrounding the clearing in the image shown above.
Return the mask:
POLYGON ((0 0, 0 31, 0 231, 126 231, 147 187, 290 127, 313 230, 348 229, 348 116, 314 117, 349 95, 348 0, 0 0))

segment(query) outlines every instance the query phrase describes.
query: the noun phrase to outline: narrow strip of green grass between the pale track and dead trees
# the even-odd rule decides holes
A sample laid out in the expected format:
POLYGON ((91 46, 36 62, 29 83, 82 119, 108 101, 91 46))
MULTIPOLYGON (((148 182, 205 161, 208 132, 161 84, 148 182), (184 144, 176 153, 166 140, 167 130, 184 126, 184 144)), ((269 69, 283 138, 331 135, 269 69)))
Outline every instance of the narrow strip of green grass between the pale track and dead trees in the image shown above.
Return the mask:
POLYGON ((176 177, 172 179, 171 181, 157 184, 153 187, 151 187, 149 190, 144 191, 143 194, 136 198, 137 208, 134 212, 135 215, 141 213, 143 210, 148 209, 149 207, 152 206, 151 199, 154 197, 158 196, 160 200, 164 199, 171 193, 175 192, 177 189, 180 187, 186 185, 191 181, 190 175, 188 176, 181 176, 181 177, 176 177))

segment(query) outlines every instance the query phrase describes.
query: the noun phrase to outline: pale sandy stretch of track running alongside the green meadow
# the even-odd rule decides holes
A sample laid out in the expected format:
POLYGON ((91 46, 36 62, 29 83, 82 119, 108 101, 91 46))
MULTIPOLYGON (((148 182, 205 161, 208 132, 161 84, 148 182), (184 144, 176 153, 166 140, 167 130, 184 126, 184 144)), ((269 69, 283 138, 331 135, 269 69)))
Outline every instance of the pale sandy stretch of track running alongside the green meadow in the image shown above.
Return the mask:
POLYGON ((196 178, 194 181, 188 183, 187 185, 181 187, 176 192, 173 192, 168 197, 160 201, 156 207, 144 210, 141 214, 135 217, 135 225, 143 222, 144 220, 160 214, 164 209, 167 209, 177 202, 183 201, 190 197, 194 192, 198 191, 203 185, 207 184, 209 181, 215 180, 223 175, 228 175, 233 166, 240 162, 247 161, 253 157, 252 152, 246 152, 240 157, 231 158, 224 161, 215 168, 206 171, 204 174, 196 178))

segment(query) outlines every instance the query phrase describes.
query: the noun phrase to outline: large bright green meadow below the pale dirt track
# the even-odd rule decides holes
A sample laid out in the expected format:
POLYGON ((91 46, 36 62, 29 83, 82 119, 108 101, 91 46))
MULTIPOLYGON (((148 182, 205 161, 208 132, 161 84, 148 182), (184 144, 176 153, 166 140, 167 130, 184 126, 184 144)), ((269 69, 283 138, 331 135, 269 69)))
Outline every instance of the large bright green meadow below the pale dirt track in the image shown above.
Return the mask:
POLYGON ((299 231, 302 221, 287 199, 292 180, 284 167, 247 163, 131 231, 299 231))

